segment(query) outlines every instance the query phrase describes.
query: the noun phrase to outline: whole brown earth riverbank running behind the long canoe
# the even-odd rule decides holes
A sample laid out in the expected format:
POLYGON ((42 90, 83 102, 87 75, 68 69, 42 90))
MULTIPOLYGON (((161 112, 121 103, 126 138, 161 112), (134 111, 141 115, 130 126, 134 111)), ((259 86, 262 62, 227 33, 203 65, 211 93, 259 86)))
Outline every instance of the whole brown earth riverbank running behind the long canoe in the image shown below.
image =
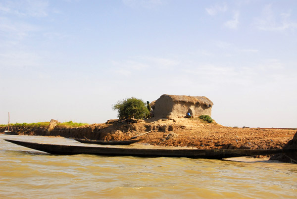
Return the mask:
MULTIPOLYGON (((142 144, 162 147, 189 147, 198 149, 282 149, 292 140, 294 129, 232 128, 215 121, 207 123, 198 118, 145 120, 108 120, 103 124, 81 127, 55 126, 18 127, 20 135, 61 136, 93 140, 129 140, 133 136, 151 131, 139 138, 142 144)), ((0 132, 4 129, 0 128, 0 132)))

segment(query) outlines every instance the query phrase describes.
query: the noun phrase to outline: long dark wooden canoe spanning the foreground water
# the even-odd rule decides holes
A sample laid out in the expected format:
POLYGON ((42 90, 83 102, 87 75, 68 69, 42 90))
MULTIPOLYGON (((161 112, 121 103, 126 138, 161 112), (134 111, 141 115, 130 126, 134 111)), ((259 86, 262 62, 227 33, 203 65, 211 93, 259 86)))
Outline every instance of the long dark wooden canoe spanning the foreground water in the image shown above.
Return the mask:
POLYGON ((74 145, 53 145, 7 140, 23 147, 36 149, 51 154, 95 154, 109 156, 142 156, 142 157, 189 157, 222 159, 228 157, 266 155, 284 152, 283 149, 136 149, 136 148, 111 148, 90 147, 74 145))

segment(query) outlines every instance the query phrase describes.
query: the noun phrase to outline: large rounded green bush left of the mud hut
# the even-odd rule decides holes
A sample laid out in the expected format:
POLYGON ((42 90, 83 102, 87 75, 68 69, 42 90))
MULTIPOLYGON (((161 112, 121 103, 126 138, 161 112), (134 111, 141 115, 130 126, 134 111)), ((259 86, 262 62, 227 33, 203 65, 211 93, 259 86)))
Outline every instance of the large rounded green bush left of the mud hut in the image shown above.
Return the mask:
POLYGON ((148 108, 142 99, 128 98, 118 101, 112 106, 113 110, 118 111, 120 119, 142 119, 148 115, 148 108))

